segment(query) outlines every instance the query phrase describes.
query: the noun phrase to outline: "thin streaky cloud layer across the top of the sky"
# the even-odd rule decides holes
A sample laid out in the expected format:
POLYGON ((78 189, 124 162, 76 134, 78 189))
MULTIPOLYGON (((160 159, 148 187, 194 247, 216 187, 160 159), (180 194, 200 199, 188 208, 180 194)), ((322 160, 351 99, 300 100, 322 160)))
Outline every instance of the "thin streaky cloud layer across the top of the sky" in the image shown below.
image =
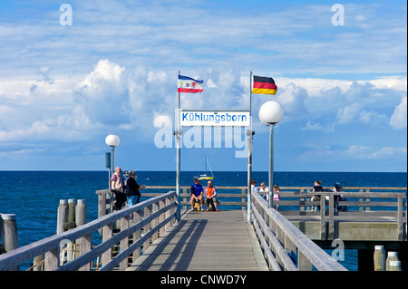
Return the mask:
POLYGON ((58 5, 34 5, 30 14, 15 18, 19 11, 11 9, 0 20, 0 39, 7 43, 0 46, 0 72, 48 67, 83 73, 101 57, 116 63, 122 57, 127 67, 166 69, 255 67, 315 75, 406 71, 406 17, 394 13, 400 7, 392 3, 387 9, 345 5, 345 27, 331 24, 331 4, 280 4, 279 9, 272 3, 242 8, 224 1, 70 4, 70 27, 58 23, 58 5))

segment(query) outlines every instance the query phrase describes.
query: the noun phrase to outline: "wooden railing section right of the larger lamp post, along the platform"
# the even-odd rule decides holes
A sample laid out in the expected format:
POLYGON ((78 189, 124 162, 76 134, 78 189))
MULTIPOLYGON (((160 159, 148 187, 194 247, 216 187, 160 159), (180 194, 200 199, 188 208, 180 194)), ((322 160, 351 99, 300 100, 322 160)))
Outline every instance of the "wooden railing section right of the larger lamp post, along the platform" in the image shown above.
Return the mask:
POLYGON ((397 221, 398 240, 406 240, 406 188, 350 187, 342 192, 315 193, 311 188, 296 189, 299 191, 278 192, 280 200, 274 201, 274 206, 284 216, 318 217, 321 240, 335 239, 335 217, 393 217, 397 221), (344 198, 335 197, 339 195, 344 198), (318 200, 312 200, 314 196, 318 200))

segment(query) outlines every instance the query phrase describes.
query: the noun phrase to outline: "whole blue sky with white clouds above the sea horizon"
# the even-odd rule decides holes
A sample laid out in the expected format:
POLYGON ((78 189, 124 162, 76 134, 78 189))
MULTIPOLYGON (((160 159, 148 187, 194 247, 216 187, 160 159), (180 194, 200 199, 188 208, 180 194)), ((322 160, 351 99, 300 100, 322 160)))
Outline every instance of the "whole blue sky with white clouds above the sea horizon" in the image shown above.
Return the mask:
MULTIPOLYGON (((0 2, 0 170, 175 170, 177 74, 203 80, 184 110, 246 111, 267 171, 407 171, 405 1, 0 2)), ((245 128, 183 128, 181 170, 247 170, 245 128), (219 141, 215 141, 219 140, 219 141)))

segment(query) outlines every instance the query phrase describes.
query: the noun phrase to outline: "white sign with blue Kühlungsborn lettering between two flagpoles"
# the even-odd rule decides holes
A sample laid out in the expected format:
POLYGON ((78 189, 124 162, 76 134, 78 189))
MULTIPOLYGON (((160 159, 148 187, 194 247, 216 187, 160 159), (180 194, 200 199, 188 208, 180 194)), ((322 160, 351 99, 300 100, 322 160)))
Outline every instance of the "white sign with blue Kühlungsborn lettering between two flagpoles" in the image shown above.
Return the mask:
POLYGON ((249 111, 180 111, 180 126, 247 127, 249 111))

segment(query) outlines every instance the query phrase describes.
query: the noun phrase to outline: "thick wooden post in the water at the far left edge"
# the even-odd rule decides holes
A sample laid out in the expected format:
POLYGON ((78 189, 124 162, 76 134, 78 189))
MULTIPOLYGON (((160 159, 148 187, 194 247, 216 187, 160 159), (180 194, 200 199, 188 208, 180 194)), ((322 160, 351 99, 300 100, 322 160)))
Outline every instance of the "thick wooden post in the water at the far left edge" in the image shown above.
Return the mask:
MULTIPOLYGON (((10 252, 18 248, 18 231, 15 214, 0 214, 0 232, 3 240, 3 249, 10 252)), ((11 271, 18 271, 15 266, 11 271)))

